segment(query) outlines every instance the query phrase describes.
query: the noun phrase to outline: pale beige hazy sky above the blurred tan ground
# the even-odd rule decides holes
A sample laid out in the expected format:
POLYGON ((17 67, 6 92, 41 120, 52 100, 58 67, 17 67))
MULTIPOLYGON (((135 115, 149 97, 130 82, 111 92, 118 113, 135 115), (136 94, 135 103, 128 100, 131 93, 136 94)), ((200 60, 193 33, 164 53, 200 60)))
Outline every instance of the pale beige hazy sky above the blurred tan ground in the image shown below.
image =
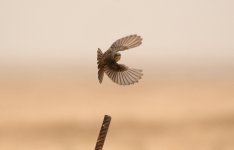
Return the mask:
POLYGON ((1 0, 0 67, 96 69, 98 47, 139 34, 143 44, 122 63, 233 72, 233 8, 232 0, 1 0))

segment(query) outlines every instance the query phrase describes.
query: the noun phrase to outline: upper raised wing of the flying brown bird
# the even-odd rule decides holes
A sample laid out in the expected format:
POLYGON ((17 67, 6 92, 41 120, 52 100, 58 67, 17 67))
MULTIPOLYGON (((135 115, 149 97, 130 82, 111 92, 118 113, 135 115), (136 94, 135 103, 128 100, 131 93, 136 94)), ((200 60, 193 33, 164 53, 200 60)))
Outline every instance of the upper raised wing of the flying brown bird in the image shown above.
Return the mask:
POLYGON ((108 49, 110 51, 124 51, 141 45, 142 38, 136 34, 129 35, 115 41, 108 49))

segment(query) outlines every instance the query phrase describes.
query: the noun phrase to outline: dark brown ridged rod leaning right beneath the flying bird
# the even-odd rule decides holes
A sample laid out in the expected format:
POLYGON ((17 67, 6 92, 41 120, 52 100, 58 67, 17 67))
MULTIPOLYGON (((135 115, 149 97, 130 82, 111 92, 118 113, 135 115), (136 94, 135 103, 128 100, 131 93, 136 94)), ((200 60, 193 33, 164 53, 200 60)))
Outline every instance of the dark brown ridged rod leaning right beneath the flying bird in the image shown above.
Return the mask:
POLYGON ((98 135, 95 150, 102 150, 103 145, 105 143, 105 139, 106 139, 106 135, 107 135, 107 132, 108 132, 110 122, 111 122, 111 116, 105 115, 103 123, 102 123, 101 130, 100 130, 100 133, 98 135))

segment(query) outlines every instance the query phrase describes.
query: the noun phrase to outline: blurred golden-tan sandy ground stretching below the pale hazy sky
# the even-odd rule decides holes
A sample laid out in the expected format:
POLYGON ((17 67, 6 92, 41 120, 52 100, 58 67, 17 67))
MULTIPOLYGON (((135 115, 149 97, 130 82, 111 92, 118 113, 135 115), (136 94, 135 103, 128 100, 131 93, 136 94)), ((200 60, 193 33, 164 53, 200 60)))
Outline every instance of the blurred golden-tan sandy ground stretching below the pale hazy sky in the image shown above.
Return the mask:
POLYGON ((232 80, 89 81, 1 80, 0 149, 94 149, 105 114, 106 150, 234 149, 232 80))

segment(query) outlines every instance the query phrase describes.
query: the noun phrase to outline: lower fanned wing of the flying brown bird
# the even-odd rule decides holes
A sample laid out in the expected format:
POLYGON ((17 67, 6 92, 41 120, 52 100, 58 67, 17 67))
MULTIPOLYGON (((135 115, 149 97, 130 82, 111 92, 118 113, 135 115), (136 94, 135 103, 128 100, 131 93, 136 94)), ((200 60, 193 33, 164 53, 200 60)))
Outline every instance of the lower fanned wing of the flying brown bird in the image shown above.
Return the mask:
POLYGON ((130 85, 138 82, 143 76, 142 70, 128 68, 123 64, 114 63, 104 67, 106 75, 115 83, 130 85))

